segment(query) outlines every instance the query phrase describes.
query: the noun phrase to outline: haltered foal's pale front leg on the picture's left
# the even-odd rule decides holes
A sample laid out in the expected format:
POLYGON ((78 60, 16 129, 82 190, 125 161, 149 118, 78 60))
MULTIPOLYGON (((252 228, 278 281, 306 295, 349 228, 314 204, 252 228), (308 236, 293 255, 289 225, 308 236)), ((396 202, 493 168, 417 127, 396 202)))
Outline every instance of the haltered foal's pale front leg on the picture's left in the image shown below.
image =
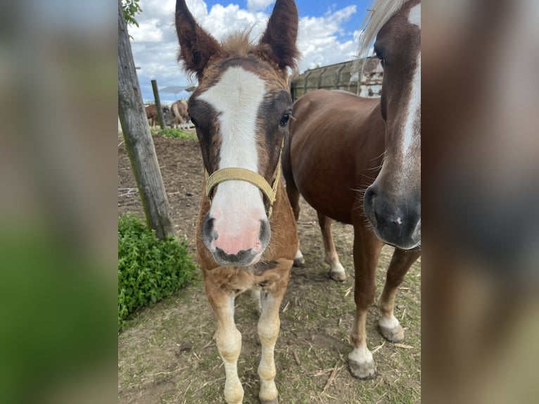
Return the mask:
POLYGON ((243 402, 243 387, 238 377, 238 357, 241 351, 241 333, 234 323, 234 296, 225 293, 205 279, 205 289, 217 320, 217 349, 224 363, 224 400, 227 404, 243 402))

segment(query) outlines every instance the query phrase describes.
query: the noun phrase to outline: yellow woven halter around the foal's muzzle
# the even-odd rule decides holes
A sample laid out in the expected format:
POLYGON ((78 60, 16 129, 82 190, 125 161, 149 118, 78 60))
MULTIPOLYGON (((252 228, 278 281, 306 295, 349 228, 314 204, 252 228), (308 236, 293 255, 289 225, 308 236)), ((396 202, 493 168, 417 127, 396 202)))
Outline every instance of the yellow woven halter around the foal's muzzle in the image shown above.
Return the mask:
POLYGON ((255 187, 262 191, 267 198, 267 201, 270 203, 270 208, 267 210, 267 217, 272 215, 273 203, 277 198, 277 187, 279 187, 279 179, 281 178, 281 156, 283 153, 284 138, 283 144, 281 144, 281 152, 279 153, 279 160, 277 161, 277 174, 273 181, 273 185, 270 185, 262 175, 258 172, 247 170, 246 168, 239 167, 229 167, 222 168, 221 170, 214 171, 212 175, 208 175, 208 170, 205 170, 206 175, 206 196, 210 198, 210 194, 213 189, 224 181, 246 181, 253 184, 255 187))

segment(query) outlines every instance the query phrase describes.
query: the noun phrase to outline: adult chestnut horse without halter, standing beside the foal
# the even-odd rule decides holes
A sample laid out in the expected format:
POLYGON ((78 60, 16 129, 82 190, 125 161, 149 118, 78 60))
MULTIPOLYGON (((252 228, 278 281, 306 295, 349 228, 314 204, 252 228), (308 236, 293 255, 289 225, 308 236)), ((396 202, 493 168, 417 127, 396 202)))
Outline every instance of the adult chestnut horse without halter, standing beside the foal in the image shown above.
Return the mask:
MULTIPOLYGON (((381 334, 396 342, 404 338, 404 331, 393 315, 395 292, 419 258, 421 243, 421 5, 414 0, 376 1, 373 10, 365 32, 378 32, 381 99, 326 90, 301 97, 293 105, 282 162, 296 220, 299 194, 317 210, 333 279, 344 280, 345 272, 335 251, 331 220, 354 227, 356 313, 348 363, 360 379, 376 374, 365 322, 374 301, 381 248, 384 243, 396 247, 379 300, 381 334)), ((302 261, 298 249, 296 263, 302 261)))

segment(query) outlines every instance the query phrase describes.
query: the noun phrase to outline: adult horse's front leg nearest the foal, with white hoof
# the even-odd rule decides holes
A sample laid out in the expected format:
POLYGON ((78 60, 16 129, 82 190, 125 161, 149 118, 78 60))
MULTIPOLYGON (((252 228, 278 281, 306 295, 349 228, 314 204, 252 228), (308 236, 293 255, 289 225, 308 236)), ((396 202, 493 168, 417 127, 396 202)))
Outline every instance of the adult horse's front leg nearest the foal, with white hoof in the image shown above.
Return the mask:
POLYGON ((374 274, 383 244, 363 223, 354 225, 355 267, 355 317, 350 333, 353 351, 348 355, 348 365, 353 376, 372 379, 376 366, 367 348, 367 312, 374 301, 374 274))

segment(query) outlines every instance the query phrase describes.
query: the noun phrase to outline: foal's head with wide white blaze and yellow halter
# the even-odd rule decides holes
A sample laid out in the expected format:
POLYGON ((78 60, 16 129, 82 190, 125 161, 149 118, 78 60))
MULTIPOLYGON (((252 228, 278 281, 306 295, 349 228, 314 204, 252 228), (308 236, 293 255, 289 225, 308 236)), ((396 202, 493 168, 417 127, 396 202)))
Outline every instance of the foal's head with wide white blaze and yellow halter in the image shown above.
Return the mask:
POLYGON ((235 34, 219 44, 176 3, 176 30, 198 87, 189 99, 211 201, 201 236, 220 265, 256 263, 270 242, 268 217, 292 100, 286 79, 296 68, 298 11, 277 0, 258 44, 235 34))

